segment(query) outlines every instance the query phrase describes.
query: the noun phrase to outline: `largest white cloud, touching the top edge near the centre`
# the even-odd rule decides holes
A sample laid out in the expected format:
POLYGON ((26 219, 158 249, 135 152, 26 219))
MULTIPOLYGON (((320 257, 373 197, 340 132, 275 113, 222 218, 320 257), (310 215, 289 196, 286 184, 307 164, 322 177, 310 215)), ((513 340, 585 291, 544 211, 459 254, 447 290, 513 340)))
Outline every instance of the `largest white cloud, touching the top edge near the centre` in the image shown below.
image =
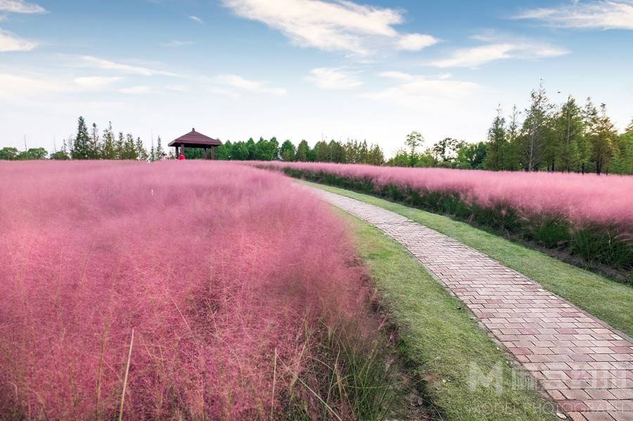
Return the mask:
POLYGON ((392 8, 363 6, 349 0, 222 0, 237 15, 263 22, 279 30, 298 46, 326 51, 345 51, 366 56, 378 44, 418 50, 430 45, 433 37, 402 35, 394 25, 402 13, 392 8))

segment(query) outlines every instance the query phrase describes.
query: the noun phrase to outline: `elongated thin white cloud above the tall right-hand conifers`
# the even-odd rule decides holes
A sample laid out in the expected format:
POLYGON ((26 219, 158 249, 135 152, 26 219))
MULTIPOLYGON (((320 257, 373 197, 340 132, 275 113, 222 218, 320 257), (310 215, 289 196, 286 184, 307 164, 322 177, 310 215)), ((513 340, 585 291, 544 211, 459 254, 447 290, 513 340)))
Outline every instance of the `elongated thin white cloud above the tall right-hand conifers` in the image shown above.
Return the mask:
MULTIPOLYGON (((474 37, 482 41, 489 40, 488 37, 474 37)), ((532 59, 557 57, 568 54, 564 48, 551 46, 549 44, 535 43, 530 41, 508 41, 485 44, 471 48, 460 48, 453 51, 447 58, 434 60, 431 65, 435 67, 478 67, 485 63, 507 58, 532 59)))

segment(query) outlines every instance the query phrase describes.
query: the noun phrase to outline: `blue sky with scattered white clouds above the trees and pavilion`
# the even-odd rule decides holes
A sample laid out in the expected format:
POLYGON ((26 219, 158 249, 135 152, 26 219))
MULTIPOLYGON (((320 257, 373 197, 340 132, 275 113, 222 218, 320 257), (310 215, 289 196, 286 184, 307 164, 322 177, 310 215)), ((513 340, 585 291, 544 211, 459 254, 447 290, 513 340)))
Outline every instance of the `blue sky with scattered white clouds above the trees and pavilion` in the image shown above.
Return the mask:
POLYGON ((59 148, 77 117, 149 147, 348 138, 389 156, 485 140, 543 83, 633 117, 633 0, 0 0, 0 147, 59 148))

